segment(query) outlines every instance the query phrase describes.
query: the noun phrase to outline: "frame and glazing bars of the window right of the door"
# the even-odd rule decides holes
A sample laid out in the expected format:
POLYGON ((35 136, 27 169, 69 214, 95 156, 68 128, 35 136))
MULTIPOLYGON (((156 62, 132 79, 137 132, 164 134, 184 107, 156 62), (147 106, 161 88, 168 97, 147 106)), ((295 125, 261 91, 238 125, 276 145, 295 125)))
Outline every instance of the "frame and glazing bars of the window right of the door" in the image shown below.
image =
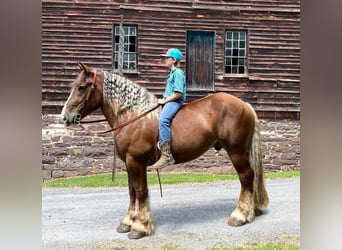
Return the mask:
MULTIPOLYGON (((234 42, 234 39, 232 39, 231 40, 232 42, 234 42)), ((240 41, 242 41, 242 40, 240 40, 240 36, 239 36, 239 38, 238 38, 238 40, 237 40, 237 42, 239 43, 240 41)), ((223 54, 223 74, 224 74, 224 76, 225 77, 248 77, 248 65, 249 65, 249 58, 248 58, 248 44, 249 44, 249 32, 248 32, 248 30, 242 30, 242 29, 234 29, 234 28, 232 28, 232 29, 226 29, 225 31, 224 31, 224 54, 223 54), (245 49, 245 55, 244 55, 244 57, 243 57, 243 59, 244 59, 244 61, 245 61, 245 63, 244 63, 244 73, 227 73, 226 72, 226 67, 227 67, 227 64, 226 64, 226 59, 229 57, 229 56, 227 56, 227 54, 226 54, 226 51, 227 51, 227 49, 228 49, 228 47, 227 47, 227 33, 228 32, 232 32, 232 37, 234 36, 233 34, 234 34, 234 32, 244 32, 245 33, 245 40, 244 40, 244 42, 245 42, 245 47, 244 47, 244 49, 245 49)), ((232 46, 233 46, 233 44, 232 44, 232 46)), ((233 51, 232 51, 232 49, 233 49, 233 47, 230 47, 230 49, 231 49, 231 57, 233 58, 234 57, 234 55, 233 55, 233 51)), ((240 52, 240 45, 238 45, 238 53, 240 52)), ((241 57, 240 57, 241 58, 241 57)), ((237 60, 239 60, 239 55, 237 56, 237 60)), ((237 67, 239 66, 239 64, 237 63, 237 64, 232 64, 232 65, 237 65, 237 67)))

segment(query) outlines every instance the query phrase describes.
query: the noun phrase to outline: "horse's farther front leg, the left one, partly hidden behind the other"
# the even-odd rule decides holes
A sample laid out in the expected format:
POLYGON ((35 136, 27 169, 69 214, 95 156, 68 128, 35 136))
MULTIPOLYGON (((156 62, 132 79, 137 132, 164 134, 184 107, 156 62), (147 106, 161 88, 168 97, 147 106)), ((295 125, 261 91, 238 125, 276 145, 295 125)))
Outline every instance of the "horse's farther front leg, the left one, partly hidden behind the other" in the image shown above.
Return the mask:
POLYGON ((129 208, 127 215, 120 221, 119 226, 116 228, 118 233, 128 233, 131 231, 131 227, 134 223, 136 217, 135 211, 135 202, 136 202, 136 193, 133 186, 132 177, 128 172, 128 189, 129 189, 129 208))

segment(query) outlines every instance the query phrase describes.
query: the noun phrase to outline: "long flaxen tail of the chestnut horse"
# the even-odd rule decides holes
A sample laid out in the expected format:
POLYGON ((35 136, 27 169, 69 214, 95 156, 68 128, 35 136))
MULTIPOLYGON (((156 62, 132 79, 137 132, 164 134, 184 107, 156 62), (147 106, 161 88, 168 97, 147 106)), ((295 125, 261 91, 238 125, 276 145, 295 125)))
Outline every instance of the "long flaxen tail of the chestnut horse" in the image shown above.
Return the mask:
POLYGON ((254 132, 249 145, 249 163, 254 171, 253 193, 255 209, 262 211, 269 203, 265 187, 264 169, 262 165, 262 152, 260 144, 260 121, 253 107, 249 105, 254 113, 254 132))

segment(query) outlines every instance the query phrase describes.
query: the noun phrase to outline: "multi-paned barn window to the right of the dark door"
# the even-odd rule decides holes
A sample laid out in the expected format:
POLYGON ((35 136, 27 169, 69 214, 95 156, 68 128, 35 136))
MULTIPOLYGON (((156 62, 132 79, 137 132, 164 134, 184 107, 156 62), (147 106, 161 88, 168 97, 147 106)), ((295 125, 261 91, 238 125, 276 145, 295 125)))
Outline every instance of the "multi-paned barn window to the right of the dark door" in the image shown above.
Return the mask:
POLYGON ((247 32, 226 31, 224 72, 230 75, 247 74, 247 32))

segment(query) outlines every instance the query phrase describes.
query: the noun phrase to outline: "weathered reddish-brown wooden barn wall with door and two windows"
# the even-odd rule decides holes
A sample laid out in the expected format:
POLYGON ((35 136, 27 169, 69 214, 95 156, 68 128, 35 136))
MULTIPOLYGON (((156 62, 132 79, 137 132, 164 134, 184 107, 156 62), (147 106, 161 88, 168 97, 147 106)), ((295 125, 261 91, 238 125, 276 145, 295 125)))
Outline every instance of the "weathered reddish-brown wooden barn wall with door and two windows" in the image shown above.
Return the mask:
POLYGON ((187 101, 227 92, 261 118, 300 117, 300 1, 42 1, 42 112, 57 114, 78 61, 161 96, 161 53, 184 55, 187 101))

